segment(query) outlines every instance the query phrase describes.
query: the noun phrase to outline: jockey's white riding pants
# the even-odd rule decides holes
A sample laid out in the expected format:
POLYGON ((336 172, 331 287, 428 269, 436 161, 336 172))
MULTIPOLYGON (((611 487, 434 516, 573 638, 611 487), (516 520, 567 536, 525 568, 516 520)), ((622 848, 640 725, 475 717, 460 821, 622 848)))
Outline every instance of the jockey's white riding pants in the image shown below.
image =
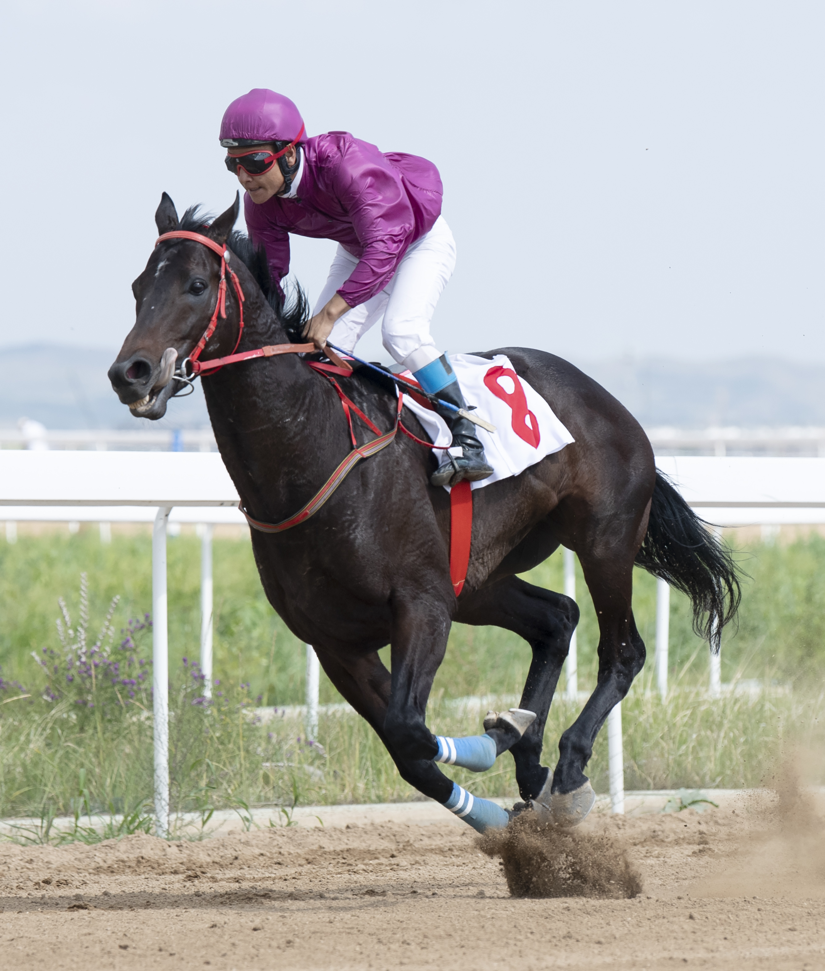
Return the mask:
MULTIPOLYGON (((313 316, 327 305, 358 262, 338 246, 313 316)), ((404 253, 390 283, 335 321, 330 342, 355 351, 361 337, 383 315, 381 341, 395 361, 410 371, 426 367, 441 356, 430 336, 430 320, 455 266, 456 242, 446 220, 439 216, 430 232, 404 253)))

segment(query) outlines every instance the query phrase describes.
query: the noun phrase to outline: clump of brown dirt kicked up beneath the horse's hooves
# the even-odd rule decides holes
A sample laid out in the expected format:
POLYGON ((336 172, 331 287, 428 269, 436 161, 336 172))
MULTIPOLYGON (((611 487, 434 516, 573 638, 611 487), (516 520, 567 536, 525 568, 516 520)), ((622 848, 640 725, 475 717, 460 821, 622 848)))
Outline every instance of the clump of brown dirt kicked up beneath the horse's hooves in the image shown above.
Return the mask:
POLYGON ((541 823, 532 813, 479 840, 489 856, 500 856, 514 897, 635 897, 641 879, 616 835, 576 831, 541 823))

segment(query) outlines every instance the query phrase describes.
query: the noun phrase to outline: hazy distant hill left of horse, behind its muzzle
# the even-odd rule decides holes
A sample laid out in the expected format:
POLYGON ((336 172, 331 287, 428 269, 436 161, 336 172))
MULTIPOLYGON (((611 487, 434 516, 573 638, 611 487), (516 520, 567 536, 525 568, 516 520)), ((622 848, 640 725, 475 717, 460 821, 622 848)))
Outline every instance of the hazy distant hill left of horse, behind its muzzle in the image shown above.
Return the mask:
MULTIPOLYGON (((20 418, 47 428, 138 428, 153 422, 134 419, 120 404, 106 372, 117 351, 31 344, 0 349, 0 424, 20 418)), ((173 402, 162 419, 167 426, 209 424, 203 393, 173 402)))

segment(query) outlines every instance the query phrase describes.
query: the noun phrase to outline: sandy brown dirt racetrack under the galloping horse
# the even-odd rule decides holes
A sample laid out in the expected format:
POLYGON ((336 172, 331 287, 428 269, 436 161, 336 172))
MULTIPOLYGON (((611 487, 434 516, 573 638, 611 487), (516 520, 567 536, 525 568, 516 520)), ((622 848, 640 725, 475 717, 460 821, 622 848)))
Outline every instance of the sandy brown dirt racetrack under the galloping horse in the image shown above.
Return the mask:
MULTIPOLYGON (((587 820, 632 899, 511 897, 463 823, 0 844, 0 967, 825 968, 821 820, 587 820)), ((589 834, 589 837, 587 836, 589 834)))

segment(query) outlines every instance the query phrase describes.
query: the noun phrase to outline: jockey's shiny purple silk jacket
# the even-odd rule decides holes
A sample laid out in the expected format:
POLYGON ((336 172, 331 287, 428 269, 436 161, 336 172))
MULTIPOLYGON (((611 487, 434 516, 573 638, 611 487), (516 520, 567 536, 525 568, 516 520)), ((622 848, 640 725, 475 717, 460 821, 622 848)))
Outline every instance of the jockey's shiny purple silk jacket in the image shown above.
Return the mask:
POLYGON ((290 272, 290 233, 340 243, 360 260, 338 290, 357 307, 392 280, 409 246, 440 216, 441 178, 426 158, 378 151, 346 131, 316 135, 301 149, 296 197, 257 206, 246 194, 247 229, 279 289, 290 272))

